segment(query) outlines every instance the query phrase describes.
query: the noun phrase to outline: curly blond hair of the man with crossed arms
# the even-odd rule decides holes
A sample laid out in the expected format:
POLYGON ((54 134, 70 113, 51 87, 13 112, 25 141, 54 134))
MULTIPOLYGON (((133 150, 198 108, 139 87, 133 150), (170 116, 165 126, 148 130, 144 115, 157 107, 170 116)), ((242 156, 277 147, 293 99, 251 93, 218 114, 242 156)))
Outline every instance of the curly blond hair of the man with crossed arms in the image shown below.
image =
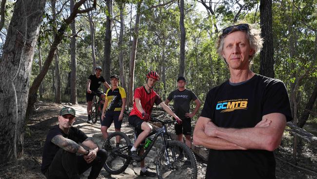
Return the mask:
POLYGON ((217 47, 217 53, 220 57, 222 57, 224 38, 226 38, 226 36, 228 34, 231 34, 232 32, 236 32, 236 31, 245 32, 247 34, 247 38, 249 40, 250 47, 252 49, 254 49, 253 55, 249 56, 249 62, 251 62, 251 60, 253 59, 254 56, 258 55, 258 53, 261 51, 261 48, 263 46, 263 38, 261 38, 261 29, 256 24, 249 24, 248 23, 248 25, 249 25, 250 30, 242 31, 242 30, 239 30, 237 27, 233 27, 233 29, 229 33, 227 33, 225 35, 223 35, 221 33, 219 35, 217 43, 216 43, 216 47, 217 47))

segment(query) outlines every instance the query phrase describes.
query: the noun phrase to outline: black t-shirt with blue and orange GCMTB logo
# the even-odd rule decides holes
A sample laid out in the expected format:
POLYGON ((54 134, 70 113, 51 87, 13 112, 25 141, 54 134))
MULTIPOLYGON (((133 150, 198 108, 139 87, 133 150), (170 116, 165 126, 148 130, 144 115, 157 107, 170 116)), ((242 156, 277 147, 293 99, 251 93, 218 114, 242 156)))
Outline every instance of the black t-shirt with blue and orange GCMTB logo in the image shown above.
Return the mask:
MULTIPOLYGON (((273 112, 292 120, 285 85, 256 74, 241 85, 226 81, 210 90, 200 116, 210 118, 218 127, 250 128, 273 112)), ((275 179, 275 165, 273 152, 266 150, 210 149, 206 179, 275 179)))

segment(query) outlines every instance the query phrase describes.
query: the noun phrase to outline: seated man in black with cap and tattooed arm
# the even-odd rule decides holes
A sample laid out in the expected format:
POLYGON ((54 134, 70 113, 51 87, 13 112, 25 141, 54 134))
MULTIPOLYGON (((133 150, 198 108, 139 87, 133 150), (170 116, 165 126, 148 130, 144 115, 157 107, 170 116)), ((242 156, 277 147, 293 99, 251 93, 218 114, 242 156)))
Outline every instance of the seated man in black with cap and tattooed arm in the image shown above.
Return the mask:
POLYGON ((79 174, 90 167, 88 179, 96 179, 107 159, 105 150, 99 150, 86 134, 72 127, 75 113, 73 108, 62 108, 59 125, 47 134, 41 166, 41 172, 47 179, 79 179, 79 174), (88 150, 80 146, 79 142, 88 150))

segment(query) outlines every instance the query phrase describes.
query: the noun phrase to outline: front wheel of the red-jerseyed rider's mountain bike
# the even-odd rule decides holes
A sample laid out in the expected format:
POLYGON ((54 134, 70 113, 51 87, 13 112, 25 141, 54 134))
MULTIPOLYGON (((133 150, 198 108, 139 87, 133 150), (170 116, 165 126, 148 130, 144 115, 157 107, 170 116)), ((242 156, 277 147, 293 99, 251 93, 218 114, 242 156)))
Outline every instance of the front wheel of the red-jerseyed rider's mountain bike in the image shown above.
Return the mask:
POLYGON ((169 141, 157 158, 158 179, 197 179, 197 161, 193 151, 180 141, 169 141))

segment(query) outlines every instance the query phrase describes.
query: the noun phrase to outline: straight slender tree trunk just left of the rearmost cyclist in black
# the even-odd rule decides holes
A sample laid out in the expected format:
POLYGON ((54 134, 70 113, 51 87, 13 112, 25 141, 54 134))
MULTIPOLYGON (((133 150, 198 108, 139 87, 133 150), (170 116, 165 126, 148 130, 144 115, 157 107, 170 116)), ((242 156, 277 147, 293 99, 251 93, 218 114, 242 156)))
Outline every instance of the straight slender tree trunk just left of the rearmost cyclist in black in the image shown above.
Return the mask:
MULTIPOLYGON (((74 0, 70 0, 70 12, 72 13, 74 10, 74 0)), ((89 12, 88 12, 89 13, 89 12)), ((70 24, 70 28, 72 29, 72 38, 70 40, 70 59, 71 59, 71 77, 70 77, 70 103, 78 104, 77 101, 77 59, 76 59, 76 26, 75 20, 70 24)))

